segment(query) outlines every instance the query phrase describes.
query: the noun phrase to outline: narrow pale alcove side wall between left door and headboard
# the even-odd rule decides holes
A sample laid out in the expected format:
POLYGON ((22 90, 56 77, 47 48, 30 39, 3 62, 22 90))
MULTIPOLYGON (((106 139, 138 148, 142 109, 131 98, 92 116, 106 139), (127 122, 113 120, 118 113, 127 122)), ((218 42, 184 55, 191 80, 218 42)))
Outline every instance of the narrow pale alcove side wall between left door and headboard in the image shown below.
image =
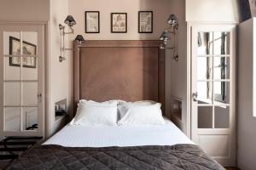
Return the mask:
MULTIPOLYGON (((68 0, 50 0, 49 19, 49 135, 55 133, 63 123, 63 119, 55 122, 55 102, 61 99, 70 101, 68 94, 69 77, 71 68, 70 57, 59 62, 61 36, 59 24, 64 25, 64 20, 68 14, 68 0)), ((66 45, 68 37, 66 36, 66 45)), ((67 46, 66 46, 67 47, 67 46)))

